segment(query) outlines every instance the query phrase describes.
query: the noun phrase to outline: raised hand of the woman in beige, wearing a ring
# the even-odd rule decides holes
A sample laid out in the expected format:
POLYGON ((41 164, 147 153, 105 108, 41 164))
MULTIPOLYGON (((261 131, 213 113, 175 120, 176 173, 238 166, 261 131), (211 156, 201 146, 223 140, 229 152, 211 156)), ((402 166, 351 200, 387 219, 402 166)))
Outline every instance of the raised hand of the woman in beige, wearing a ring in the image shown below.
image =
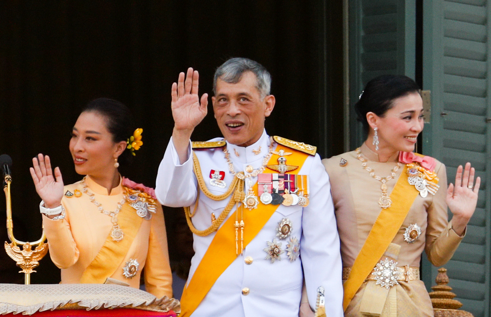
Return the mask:
POLYGON ((447 190, 446 202, 448 208, 454 214, 452 228, 459 236, 464 233, 465 226, 467 226, 470 217, 476 210, 481 178, 476 178, 476 183, 474 184, 474 173, 474 167, 471 168, 470 163, 467 162, 465 168, 460 165, 455 175, 455 185, 450 184, 447 190))

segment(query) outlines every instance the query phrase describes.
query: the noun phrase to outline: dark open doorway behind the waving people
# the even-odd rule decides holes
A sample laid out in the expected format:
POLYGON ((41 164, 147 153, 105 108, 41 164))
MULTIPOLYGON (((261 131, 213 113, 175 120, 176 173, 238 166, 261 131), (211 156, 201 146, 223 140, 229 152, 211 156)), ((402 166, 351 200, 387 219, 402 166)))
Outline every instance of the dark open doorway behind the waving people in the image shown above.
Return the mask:
MULTIPOLYGON (((172 132, 172 82, 191 66, 200 94, 211 94, 216 67, 235 56, 272 74, 270 135, 317 145, 322 157, 343 152, 341 1, 0 1, 0 154, 13 160, 15 237, 41 235, 32 157, 50 155, 65 184, 81 179, 68 140, 82 105, 109 97, 132 109, 144 144, 121 172, 154 186, 172 132)), ((209 112, 193 140, 220 135, 209 112)), ((164 212, 171 260, 185 263, 190 240, 179 237, 189 230, 179 210, 164 212)), ((0 283, 23 283, 18 270, 0 250, 0 283)), ((49 256, 37 271, 33 284, 59 282, 49 256)))

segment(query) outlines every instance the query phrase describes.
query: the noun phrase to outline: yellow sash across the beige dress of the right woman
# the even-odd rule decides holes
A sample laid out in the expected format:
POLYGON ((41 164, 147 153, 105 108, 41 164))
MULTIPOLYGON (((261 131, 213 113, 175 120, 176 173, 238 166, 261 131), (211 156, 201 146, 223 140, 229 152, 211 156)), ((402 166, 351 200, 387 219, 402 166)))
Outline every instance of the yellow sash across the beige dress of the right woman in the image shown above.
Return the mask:
POLYGON ((344 310, 396 236, 414 199, 419 194, 416 188, 408 182, 407 169, 408 167, 405 165, 390 194, 392 205, 387 209, 382 209, 377 220, 375 220, 360 253, 355 259, 350 275, 343 284, 344 310))

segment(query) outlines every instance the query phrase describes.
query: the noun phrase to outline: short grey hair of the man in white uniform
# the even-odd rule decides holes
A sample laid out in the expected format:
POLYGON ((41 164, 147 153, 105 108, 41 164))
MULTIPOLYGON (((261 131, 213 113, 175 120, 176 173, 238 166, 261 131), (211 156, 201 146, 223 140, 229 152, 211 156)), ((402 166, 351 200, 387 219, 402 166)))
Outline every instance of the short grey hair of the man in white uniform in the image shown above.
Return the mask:
POLYGON ((263 65, 244 57, 230 58, 217 68, 213 77, 213 93, 217 94, 218 79, 228 83, 238 83, 242 78, 242 74, 247 71, 256 75, 256 88, 261 98, 269 95, 271 91, 271 74, 263 65))

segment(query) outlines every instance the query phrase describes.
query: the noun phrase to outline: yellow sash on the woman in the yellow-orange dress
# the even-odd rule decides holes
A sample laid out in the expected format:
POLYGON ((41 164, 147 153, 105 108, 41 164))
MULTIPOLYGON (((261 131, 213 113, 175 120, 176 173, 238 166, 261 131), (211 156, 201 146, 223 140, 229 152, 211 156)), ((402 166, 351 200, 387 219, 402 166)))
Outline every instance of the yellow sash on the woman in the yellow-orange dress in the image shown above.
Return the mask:
POLYGON ((142 221, 143 218, 126 202, 118 214, 118 224, 124 233, 123 239, 119 242, 113 241, 109 232, 101 250, 83 271, 80 283, 103 284, 112 276, 128 253, 142 221))

